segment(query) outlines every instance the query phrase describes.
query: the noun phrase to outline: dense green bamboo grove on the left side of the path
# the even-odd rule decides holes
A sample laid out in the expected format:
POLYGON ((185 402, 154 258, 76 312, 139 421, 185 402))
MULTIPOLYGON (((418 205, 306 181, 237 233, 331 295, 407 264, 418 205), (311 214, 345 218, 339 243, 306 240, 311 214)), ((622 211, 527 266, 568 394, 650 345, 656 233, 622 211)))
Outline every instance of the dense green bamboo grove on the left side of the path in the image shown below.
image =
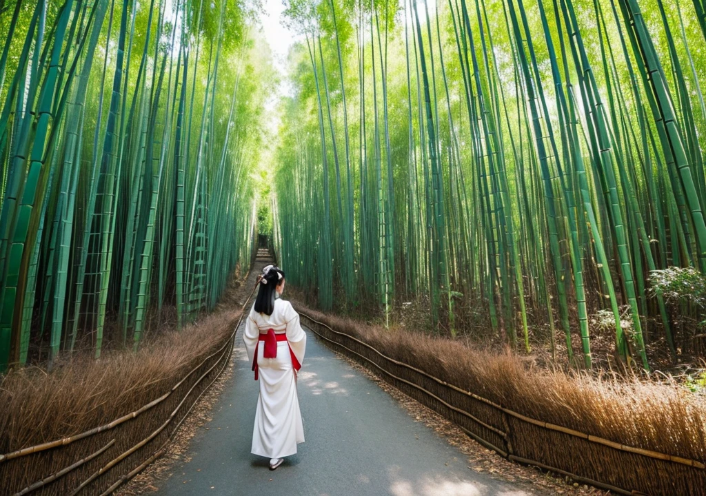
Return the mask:
MULTIPOLYGON (((179 325, 250 262, 268 66, 245 6, 0 4, 0 363, 179 325)), ((44 358, 47 358, 46 356, 44 358)))

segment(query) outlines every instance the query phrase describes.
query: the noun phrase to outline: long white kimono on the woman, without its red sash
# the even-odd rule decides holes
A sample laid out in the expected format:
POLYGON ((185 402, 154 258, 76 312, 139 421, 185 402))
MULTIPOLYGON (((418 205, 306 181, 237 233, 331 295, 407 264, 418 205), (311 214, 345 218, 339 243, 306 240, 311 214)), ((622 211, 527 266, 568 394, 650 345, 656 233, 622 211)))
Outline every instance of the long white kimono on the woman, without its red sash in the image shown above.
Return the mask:
POLYGON ((292 308, 292 303, 279 298, 269 316, 257 313, 253 304, 243 341, 249 363, 253 363, 257 350, 256 375, 259 375, 260 382, 251 452, 268 458, 295 454, 297 444, 304 442, 297 371, 292 365, 294 358, 301 364, 306 349, 306 333, 299 325, 299 314, 292 308), (275 358, 264 358, 265 341, 258 344, 260 334, 267 334, 268 329, 274 329, 275 334, 287 335, 286 341, 277 341, 275 358))

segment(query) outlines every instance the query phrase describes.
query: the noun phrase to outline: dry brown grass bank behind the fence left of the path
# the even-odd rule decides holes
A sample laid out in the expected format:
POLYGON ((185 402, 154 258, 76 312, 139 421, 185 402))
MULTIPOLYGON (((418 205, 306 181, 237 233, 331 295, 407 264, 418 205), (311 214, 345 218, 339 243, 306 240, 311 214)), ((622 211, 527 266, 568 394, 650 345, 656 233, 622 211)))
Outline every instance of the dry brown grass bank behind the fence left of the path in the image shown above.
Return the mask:
POLYGON ((52 373, 13 370, 0 385, 0 452, 83 433, 136 411, 222 346, 239 311, 168 332, 137 353, 65 359, 52 373))

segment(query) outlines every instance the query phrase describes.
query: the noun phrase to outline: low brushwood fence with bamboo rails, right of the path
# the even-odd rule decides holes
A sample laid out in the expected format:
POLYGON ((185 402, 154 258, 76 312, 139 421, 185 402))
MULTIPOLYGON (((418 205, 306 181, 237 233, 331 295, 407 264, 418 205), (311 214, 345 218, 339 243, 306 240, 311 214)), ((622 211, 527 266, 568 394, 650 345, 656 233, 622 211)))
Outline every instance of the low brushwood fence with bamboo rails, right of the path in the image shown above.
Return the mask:
MULTIPOLYGON (((458 425, 501 456, 624 495, 706 495, 703 461, 581 433, 522 415, 385 355, 362 339, 298 310, 319 337, 458 425)), ((501 377, 497 378, 502 380, 501 377)))

